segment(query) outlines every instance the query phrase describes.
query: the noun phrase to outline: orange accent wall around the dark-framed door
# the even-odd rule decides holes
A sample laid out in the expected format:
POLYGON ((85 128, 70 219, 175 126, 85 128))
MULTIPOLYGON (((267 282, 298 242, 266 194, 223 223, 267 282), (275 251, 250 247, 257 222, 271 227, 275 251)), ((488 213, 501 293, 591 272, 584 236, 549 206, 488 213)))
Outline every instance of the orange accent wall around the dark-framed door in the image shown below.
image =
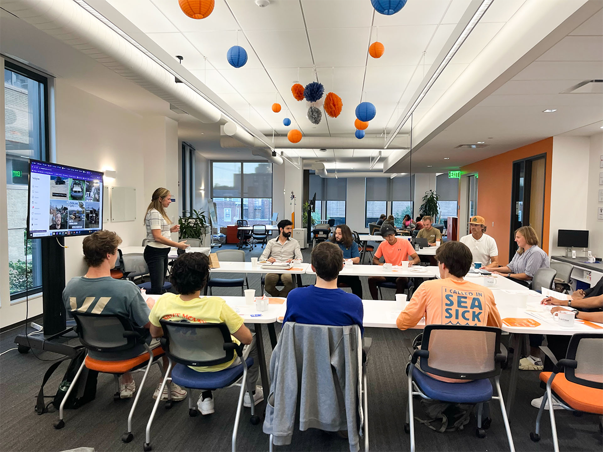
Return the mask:
MULTIPOLYGON (((461 168, 461 174, 477 172, 478 212, 488 227, 487 234, 494 237, 498 246, 498 262, 509 262, 509 237, 511 228, 511 188, 513 185, 513 162, 533 155, 546 153, 545 172, 545 218, 540 247, 549 253, 549 219, 551 218, 551 171, 553 161, 553 139, 547 138, 490 159, 480 160, 461 168), (494 222, 494 226, 492 226, 494 222)), ((459 204, 461 200, 459 199, 459 204)), ((463 200, 462 202, 466 202, 463 200)), ((459 219, 459 222, 461 219, 459 219)))

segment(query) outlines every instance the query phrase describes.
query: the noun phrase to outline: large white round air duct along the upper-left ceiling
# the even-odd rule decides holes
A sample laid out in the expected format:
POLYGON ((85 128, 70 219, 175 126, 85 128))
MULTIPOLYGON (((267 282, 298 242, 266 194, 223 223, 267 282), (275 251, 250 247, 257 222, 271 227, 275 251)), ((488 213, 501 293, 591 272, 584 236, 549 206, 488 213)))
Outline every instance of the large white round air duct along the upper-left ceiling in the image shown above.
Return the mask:
POLYGON ((220 121, 221 112, 118 32, 73 0, 6 0, 2 8, 71 45, 148 92, 201 122, 220 121))

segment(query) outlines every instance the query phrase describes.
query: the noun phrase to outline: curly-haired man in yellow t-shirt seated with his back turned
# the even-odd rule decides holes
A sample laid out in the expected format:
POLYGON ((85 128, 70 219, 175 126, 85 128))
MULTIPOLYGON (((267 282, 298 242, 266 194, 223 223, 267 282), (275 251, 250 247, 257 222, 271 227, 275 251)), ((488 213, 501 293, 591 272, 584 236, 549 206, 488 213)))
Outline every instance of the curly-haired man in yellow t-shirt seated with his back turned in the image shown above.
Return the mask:
MULTIPOLYGON (((259 374, 259 359, 257 357, 256 338, 244 325, 243 319, 232 307, 226 304, 223 298, 202 297, 201 290, 205 287, 209 275, 209 259, 202 253, 185 253, 175 260, 171 272, 171 283, 178 290, 175 293, 164 293, 151 309, 149 321, 151 322, 151 336, 163 336, 160 319, 169 321, 189 321, 203 323, 224 323, 232 334, 233 342, 245 344, 243 359, 253 357, 253 365, 247 372, 247 379, 251 381, 254 405, 264 400, 261 386, 255 386, 259 374)), ((198 372, 218 372, 229 367, 238 366, 241 359, 235 355, 231 362, 215 366, 191 367, 198 372)), ((244 406, 250 407, 249 394, 245 392, 244 406)), ((197 401, 197 407, 202 415, 208 415, 213 410, 212 391, 202 391, 197 401)))

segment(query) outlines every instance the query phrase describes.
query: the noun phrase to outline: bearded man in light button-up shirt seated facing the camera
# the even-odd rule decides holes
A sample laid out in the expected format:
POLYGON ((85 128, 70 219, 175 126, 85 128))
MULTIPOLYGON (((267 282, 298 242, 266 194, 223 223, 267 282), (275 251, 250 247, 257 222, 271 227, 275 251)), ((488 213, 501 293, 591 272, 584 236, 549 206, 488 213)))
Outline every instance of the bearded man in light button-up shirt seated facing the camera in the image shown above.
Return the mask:
MULTIPOLYGON (((289 220, 279 221, 279 236, 268 240, 260 261, 268 262, 291 262, 293 259, 302 259, 300 243, 291 238, 293 223, 289 220)), ((290 273, 268 273, 264 277, 264 288, 273 297, 286 297, 294 287, 293 276, 290 273), (276 288, 276 284, 283 281, 283 290, 276 288)))

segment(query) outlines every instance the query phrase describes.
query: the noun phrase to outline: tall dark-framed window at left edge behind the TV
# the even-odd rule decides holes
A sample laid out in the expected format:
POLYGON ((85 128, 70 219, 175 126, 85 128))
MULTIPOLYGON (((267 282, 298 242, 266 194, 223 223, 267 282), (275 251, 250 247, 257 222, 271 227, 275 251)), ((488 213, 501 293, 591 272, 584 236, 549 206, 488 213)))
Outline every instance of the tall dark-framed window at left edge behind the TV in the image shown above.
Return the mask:
POLYGON ((4 115, 11 300, 42 291, 40 240, 26 240, 28 159, 48 160, 47 80, 5 61, 4 115), (27 272, 26 272, 27 267, 27 272))

